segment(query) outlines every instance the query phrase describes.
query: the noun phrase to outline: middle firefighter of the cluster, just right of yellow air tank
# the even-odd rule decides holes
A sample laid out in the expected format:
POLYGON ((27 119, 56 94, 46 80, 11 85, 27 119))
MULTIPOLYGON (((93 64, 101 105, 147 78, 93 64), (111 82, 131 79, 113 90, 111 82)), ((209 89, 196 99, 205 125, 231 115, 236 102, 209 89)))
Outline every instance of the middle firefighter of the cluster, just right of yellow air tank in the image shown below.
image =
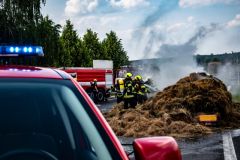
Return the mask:
POLYGON ((123 101, 124 109, 134 108, 137 105, 137 101, 134 96, 134 87, 132 81, 132 73, 127 73, 124 80, 124 91, 123 91, 123 101))

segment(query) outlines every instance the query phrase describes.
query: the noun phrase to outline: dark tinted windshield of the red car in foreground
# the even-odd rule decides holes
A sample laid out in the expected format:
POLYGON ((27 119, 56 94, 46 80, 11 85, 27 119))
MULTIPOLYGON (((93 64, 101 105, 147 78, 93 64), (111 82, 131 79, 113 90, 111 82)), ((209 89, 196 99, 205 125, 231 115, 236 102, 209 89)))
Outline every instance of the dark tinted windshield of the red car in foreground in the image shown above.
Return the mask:
POLYGON ((63 160, 112 159, 78 92, 69 84, 67 80, 1 79, 0 159, 9 155, 11 159, 16 152, 25 155, 23 159, 40 159, 43 151, 63 160))

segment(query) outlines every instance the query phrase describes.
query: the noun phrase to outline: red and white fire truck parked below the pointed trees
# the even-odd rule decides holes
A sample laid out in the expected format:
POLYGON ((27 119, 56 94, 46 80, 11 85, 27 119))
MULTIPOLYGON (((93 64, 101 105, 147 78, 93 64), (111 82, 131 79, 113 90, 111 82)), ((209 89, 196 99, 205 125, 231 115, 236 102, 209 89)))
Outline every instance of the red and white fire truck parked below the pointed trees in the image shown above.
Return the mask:
POLYGON ((91 82, 93 82, 94 79, 97 80, 98 101, 104 101, 104 99, 110 96, 110 89, 111 86, 113 86, 112 69, 65 67, 62 68, 62 70, 69 73, 73 77, 76 77, 76 80, 85 89, 90 97, 93 97, 91 82))

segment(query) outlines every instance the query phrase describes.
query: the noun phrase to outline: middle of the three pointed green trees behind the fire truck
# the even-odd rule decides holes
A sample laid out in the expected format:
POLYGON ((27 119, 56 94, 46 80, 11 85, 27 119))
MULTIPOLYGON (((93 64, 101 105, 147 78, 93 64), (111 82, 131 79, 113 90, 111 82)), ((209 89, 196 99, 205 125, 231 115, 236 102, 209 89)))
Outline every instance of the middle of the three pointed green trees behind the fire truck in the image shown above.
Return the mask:
POLYGON ((99 42, 96 32, 93 32, 91 29, 88 29, 86 34, 83 36, 83 57, 85 60, 86 67, 92 66, 92 61, 96 59, 102 59, 102 47, 99 42))

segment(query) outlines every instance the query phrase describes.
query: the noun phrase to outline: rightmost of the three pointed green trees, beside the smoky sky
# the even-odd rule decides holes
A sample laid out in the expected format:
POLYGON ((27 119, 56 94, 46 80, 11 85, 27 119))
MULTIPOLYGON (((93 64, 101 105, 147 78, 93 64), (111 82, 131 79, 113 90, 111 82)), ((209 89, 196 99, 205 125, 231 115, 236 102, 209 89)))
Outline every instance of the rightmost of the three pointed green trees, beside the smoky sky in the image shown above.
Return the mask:
POLYGON ((107 37, 102 42, 103 55, 106 59, 113 60, 114 69, 128 64, 128 56, 115 32, 106 34, 107 37))

